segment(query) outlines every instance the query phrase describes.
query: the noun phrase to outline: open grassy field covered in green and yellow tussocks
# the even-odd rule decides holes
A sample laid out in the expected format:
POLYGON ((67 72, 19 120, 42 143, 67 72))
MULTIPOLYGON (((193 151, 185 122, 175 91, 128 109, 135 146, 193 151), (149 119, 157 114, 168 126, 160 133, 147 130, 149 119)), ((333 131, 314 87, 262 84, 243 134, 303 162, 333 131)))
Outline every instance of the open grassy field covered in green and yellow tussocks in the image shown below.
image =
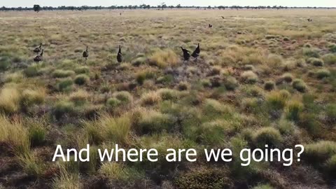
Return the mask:
POLYGON ((0 188, 336 187, 335 10, 0 12, 0 25, 0 188), (57 144, 90 144, 90 162, 52 162, 57 144), (115 144, 162 157, 99 162, 115 144), (265 144, 302 144, 302 161, 163 158, 265 144))

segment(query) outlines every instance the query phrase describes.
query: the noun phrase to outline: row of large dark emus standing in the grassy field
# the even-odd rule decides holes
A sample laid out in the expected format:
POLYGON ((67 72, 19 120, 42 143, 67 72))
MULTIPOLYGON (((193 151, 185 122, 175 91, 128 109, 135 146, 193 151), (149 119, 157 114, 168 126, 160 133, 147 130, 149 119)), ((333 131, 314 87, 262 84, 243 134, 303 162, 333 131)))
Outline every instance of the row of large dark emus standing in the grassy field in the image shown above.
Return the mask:
MULTIPOLYGON (((87 57, 89 57, 89 47, 86 46, 86 50, 83 51, 83 57, 85 58, 85 62, 87 61, 87 57)), ((182 52, 183 52, 183 60, 184 61, 188 61, 190 59, 190 57, 194 57, 195 59, 197 59, 197 57, 200 56, 200 43, 198 43, 197 48, 194 50, 194 52, 190 55, 190 51, 181 47, 182 52)), ((37 55, 36 57, 34 57, 34 62, 41 62, 43 60, 43 48, 42 48, 42 43, 36 47, 33 50, 35 53, 39 53, 41 52, 41 54, 37 55)), ((119 63, 123 62, 123 52, 121 52, 121 45, 119 45, 119 50, 118 50, 118 55, 117 55, 117 61, 119 63)))

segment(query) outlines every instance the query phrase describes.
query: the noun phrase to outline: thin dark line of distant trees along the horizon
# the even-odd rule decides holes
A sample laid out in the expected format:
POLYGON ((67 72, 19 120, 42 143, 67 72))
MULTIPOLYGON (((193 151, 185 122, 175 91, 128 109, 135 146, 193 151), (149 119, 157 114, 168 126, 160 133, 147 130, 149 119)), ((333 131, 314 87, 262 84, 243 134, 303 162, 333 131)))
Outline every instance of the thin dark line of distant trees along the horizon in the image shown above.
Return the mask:
POLYGON ((34 10, 36 12, 39 12, 41 10, 126 10, 126 9, 160 9, 164 10, 167 8, 195 8, 195 9, 219 9, 219 10, 225 10, 225 9, 235 9, 235 10, 242 10, 242 9, 247 9, 247 10, 258 10, 258 9, 288 9, 288 8, 328 8, 329 7, 288 7, 288 6, 181 6, 181 4, 178 4, 176 6, 167 6, 166 3, 161 3, 158 6, 150 6, 146 4, 141 4, 141 5, 129 5, 129 6, 58 6, 58 7, 52 7, 52 6, 39 6, 39 5, 34 5, 33 7, 12 7, 12 8, 7 8, 5 6, 0 8, 0 11, 10 11, 10 10, 16 10, 16 11, 24 11, 24 10, 34 10))

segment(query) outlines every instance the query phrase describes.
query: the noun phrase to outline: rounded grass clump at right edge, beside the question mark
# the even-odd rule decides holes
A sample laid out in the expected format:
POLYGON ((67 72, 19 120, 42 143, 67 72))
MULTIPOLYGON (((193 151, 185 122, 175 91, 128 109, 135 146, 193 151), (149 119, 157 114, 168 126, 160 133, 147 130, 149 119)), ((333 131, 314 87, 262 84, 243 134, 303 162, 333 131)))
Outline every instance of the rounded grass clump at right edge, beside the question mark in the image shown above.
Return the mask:
POLYGON ((312 163, 321 163, 336 154, 335 141, 317 141, 307 144, 304 149, 304 158, 312 163))

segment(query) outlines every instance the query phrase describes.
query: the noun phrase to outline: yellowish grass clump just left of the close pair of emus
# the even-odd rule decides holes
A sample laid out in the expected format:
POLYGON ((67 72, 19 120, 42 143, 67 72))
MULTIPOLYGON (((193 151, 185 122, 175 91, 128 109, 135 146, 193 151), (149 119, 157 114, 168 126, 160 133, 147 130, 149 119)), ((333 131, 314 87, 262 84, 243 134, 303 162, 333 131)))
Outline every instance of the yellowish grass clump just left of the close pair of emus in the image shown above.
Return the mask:
POLYGON ((149 58, 151 64, 158 66, 160 68, 165 68, 167 66, 176 66, 179 64, 179 56, 172 50, 158 50, 151 55, 149 58))

